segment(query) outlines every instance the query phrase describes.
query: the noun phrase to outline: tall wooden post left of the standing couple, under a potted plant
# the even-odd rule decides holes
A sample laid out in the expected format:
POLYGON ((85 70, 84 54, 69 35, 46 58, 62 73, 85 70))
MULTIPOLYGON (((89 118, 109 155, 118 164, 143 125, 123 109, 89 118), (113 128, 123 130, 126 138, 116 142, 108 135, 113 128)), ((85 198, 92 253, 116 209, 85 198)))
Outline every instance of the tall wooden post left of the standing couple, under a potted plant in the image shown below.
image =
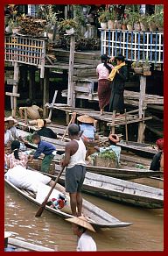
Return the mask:
POLYGON ((73 84, 73 62, 74 62, 75 36, 71 35, 70 54, 69 54, 69 71, 68 71, 68 88, 67 88, 67 105, 75 107, 75 95, 73 84))

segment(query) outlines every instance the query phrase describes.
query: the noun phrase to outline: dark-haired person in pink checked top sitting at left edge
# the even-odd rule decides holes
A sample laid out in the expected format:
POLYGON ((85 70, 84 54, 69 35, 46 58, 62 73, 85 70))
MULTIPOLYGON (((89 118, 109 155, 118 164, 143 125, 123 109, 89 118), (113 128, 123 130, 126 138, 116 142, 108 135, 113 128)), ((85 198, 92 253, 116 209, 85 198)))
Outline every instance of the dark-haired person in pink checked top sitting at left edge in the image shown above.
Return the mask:
POLYGON ((5 155, 5 163, 6 167, 11 169, 13 167, 22 166, 27 167, 27 162, 29 159, 29 156, 21 152, 20 150, 20 142, 18 140, 14 140, 11 143, 11 154, 5 155))

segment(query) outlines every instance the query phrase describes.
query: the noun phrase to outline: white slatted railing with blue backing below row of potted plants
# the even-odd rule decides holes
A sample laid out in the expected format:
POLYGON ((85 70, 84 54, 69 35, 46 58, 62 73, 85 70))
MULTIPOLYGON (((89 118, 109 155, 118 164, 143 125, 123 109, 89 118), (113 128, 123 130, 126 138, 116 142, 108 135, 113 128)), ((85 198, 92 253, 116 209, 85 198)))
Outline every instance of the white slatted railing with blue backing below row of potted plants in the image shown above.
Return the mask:
POLYGON ((101 30, 102 54, 116 56, 122 53, 126 60, 164 62, 163 32, 136 32, 101 30))

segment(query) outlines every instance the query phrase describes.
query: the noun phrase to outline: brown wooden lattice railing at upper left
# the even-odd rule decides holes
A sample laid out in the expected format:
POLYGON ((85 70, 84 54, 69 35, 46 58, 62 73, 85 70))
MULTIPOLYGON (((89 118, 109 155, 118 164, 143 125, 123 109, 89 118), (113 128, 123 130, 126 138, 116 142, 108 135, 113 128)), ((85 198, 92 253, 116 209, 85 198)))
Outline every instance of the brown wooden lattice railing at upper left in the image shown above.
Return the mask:
POLYGON ((45 39, 6 36, 4 42, 4 60, 36 66, 41 69, 40 77, 44 78, 45 39))

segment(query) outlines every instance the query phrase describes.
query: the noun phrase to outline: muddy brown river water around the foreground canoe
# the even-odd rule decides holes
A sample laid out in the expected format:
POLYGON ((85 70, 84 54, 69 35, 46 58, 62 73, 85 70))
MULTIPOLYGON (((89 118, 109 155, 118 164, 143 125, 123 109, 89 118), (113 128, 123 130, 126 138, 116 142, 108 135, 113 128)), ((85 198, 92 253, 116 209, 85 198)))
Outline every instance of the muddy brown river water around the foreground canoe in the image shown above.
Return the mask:
MULTIPOLYGON (((161 188, 160 184, 150 180, 150 185, 161 188)), ((129 227, 103 229, 92 234, 99 251, 163 250, 163 210, 144 210, 95 196, 83 196, 114 217, 133 223, 129 227)), ((13 232, 13 238, 51 248, 59 245, 59 251, 75 251, 77 239, 71 224, 47 211, 42 217, 34 217, 36 210, 36 206, 5 186, 5 230, 13 232)))

